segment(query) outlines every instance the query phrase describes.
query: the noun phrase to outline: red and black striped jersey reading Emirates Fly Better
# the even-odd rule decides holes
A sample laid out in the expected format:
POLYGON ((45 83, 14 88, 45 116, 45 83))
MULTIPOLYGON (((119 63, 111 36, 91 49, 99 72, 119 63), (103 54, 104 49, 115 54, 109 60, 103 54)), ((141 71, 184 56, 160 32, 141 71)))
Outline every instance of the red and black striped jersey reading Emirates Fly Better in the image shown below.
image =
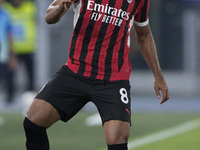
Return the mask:
POLYGON ((79 0, 66 65, 99 80, 129 80, 130 28, 148 24, 150 0, 79 0))

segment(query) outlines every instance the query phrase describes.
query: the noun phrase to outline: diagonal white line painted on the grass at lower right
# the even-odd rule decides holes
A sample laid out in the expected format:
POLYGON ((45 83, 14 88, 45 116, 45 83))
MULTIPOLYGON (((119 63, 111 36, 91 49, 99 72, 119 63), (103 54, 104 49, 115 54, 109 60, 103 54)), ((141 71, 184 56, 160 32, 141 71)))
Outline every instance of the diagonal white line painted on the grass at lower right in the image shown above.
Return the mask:
POLYGON ((147 145, 150 143, 154 143, 157 141, 161 141, 163 139, 182 134, 185 132, 188 132, 190 130, 194 130, 196 128, 200 127, 200 120, 193 120, 166 130, 163 130, 161 132, 151 134, 149 136, 145 136, 136 140, 132 140, 129 142, 129 148, 134 149, 143 145, 147 145))

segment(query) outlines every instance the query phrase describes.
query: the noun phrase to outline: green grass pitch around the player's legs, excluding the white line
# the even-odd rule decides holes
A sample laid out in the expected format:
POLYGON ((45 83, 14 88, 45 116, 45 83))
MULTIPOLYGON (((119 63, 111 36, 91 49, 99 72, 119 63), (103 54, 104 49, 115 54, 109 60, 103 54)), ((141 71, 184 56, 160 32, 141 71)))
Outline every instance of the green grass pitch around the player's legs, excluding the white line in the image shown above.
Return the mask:
MULTIPOLYGON (((102 126, 88 127, 85 119, 91 112, 81 111, 68 123, 58 122, 48 129, 51 150, 103 150, 106 148, 102 126)), ((198 114, 132 115, 130 141, 198 118, 198 114)), ((23 116, 0 114, 0 150, 25 150, 23 116)), ((199 150, 200 127, 158 142, 130 150, 199 150)))

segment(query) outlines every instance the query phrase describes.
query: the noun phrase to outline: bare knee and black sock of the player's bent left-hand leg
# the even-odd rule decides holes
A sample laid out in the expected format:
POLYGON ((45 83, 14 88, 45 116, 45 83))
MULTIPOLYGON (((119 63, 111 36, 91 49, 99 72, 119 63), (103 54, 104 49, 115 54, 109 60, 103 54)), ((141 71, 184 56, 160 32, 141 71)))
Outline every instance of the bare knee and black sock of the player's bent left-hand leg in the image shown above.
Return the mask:
POLYGON ((27 150, 49 150, 46 129, 59 119, 60 115, 51 104, 35 99, 24 119, 27 150))

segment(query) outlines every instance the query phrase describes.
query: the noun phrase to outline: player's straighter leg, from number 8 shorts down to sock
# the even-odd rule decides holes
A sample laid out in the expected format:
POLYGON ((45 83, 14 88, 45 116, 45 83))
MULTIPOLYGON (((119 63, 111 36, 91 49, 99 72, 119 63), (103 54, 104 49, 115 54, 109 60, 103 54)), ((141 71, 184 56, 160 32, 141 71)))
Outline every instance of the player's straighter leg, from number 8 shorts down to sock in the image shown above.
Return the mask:
POLYGON ((92 99, 103 121, 108 150, 127 150, 131 123, 129 81, 110 81, 93 89, 92 99))

